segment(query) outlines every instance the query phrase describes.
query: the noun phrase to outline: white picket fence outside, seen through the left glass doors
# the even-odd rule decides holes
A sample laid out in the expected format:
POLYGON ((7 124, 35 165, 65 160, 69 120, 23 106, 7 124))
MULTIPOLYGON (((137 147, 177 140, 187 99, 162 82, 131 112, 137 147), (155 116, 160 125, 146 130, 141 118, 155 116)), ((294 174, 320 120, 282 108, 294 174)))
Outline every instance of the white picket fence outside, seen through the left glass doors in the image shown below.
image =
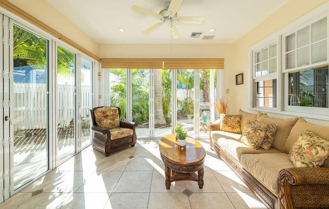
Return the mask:
MULTIPOLYGON (((90 86, 81 87, 81 116, 89 115, 92 107, 90 86)), ((13 122, 15 130, 47 127, 47 86, 44 83, 14 83, 13 122)), ((68 125, 75 118, 74 86, 59 85, 57 95, 58 123, 68 125)), ((54 120, 55 118, 51 118, 54 120)))

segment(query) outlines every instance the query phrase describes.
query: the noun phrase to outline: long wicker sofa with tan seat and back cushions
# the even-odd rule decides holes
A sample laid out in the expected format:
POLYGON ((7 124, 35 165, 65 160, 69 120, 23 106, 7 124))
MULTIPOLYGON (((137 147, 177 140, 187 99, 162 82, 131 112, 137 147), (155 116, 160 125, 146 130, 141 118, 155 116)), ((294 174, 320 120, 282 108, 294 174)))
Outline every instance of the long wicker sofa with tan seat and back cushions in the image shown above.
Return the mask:
POLYGON ((329 127, 303 118, 279 119, 259 112, 239 111, 241 132, 247 121, 277 124, 269 150, 254 150, 240 142, 239 133, 211 124, 210 146, 268 208, 329 208, 329 158, 320 168, 296 168, 288 153, 306 128, 329 141, 329 127))

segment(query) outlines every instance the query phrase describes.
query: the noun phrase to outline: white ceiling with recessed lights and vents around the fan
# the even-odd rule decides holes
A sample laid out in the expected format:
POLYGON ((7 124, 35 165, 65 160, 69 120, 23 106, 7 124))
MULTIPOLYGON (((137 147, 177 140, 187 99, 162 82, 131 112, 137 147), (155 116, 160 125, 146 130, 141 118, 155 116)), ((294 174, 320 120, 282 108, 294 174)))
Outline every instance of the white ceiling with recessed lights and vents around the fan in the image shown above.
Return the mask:
POLYGON ((201 25, 176 24, 179 39, 167 26, 150 34, 142 31, 159 19, 132 10, 133 5, 158 13, 170 0, 47 0, 98 44, 231 44, 245 35, 289 0, 185 0, 178 16, 205 16, 201 25), (119 32, 124 28, 125 32, 119 32), (216 28, 215 32, 209 29, 216 28), (192 32, 203 32, 191 38, 192 32), (203 35, 215 35, 203 40, 203 35))

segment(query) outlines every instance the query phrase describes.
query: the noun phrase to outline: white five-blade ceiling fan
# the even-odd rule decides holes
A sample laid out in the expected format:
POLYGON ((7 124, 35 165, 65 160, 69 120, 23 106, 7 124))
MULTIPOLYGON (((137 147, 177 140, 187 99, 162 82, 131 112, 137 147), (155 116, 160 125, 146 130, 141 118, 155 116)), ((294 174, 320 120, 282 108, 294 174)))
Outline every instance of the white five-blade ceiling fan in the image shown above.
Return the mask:
POLYGON ((162 25, 168 26, 171 35, 174 39, 178 39, 180 37, 180 34, 175 26, 176 23, 186 23, 186 24, 202 24, 205 22, 206 18, 205 17, 180 17, 177 16, 177 10, 179 9, 181 3, 184 0, 171 0, 171 2, 166 2, 165 3, 165 9, 161 10, 159 13, 153 12, 148 9, 144 9, 139 6, 132 6, 132 9, 135 10, 136 12, 156 17, 160 19, 159 23, 154 24, 150 28, 144 30, 142 33, 143 34, 148 34, 157 29, 158 27, 162 25))

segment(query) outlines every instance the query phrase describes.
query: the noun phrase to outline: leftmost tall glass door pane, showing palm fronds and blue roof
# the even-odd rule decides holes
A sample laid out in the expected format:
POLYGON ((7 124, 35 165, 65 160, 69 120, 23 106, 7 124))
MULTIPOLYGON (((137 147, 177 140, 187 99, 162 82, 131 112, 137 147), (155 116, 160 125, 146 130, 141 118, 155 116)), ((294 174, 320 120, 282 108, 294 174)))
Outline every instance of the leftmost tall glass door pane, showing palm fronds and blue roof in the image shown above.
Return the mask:
POLYGON ((48 168, 48 41, 13 26, 14 190, 48 168))

